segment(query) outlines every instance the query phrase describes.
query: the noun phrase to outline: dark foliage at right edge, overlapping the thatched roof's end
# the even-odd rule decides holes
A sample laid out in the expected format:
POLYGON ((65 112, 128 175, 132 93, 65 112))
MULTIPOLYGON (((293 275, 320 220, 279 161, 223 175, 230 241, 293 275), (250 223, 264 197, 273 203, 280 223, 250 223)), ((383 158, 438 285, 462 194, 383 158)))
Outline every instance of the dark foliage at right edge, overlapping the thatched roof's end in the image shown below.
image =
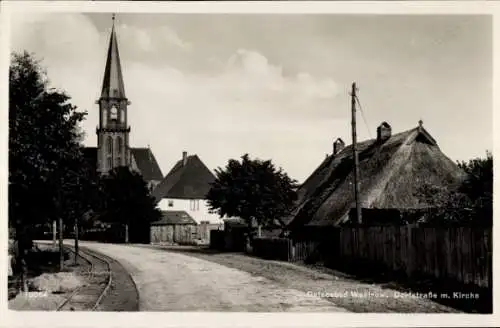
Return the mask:
POLYGON ((420 193, 434 207, 438 219, 491 225, 493 219, 493 156, 457 162, 465 177, 458 188, 448 190, 425 184, 420 193))

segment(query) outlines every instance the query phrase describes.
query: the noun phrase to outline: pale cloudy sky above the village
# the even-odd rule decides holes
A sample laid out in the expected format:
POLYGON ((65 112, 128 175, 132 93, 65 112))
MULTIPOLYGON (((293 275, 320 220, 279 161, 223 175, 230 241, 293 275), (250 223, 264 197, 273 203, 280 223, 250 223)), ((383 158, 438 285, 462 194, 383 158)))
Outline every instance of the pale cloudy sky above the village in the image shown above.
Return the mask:
MULTIPOLYGON (((22 13, 11 49, 42 59, 52 87, 88 112, 95 146, 111 14, 22 13)), ((492 19, 445 15, 119 14, 133 147, 163 174, 182 151, 210 168, 248 153, 304 181, 341 137, 358 85, 358 140, 422 120, 452 160, 493 147, 492 19)))

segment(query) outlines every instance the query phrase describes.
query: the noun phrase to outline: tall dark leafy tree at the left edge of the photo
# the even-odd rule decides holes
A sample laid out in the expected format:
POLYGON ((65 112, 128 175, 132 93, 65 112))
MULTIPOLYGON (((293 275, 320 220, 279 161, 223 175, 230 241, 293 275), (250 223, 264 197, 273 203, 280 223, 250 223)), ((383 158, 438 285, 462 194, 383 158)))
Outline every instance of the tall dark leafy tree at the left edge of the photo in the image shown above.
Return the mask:
MULTIPOLYGON (((9 69, 9 221, 18 254, 31 248, 29 228, 62 215, 69 170, 81 157, 78 112, 64 92, 49 89, 32 54, 14 53, 9 69)), ((76 165, 76 167, 75 167, 76 165)), ((25 273, 25 270, 23 270, 25 273)))

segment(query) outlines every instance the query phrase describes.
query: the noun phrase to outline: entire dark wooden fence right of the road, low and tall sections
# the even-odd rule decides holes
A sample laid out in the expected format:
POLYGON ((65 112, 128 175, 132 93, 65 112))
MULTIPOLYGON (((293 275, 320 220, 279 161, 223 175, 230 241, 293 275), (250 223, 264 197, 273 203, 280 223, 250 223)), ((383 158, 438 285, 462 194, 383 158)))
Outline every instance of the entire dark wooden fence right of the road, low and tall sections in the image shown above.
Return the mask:
POLYGON ((427 276, 491 286, 491 229, 355 226, 336 228, 330 236, 300 240, 258 238, 253 253, 285 261, 369 263, 409 277, 427 276))

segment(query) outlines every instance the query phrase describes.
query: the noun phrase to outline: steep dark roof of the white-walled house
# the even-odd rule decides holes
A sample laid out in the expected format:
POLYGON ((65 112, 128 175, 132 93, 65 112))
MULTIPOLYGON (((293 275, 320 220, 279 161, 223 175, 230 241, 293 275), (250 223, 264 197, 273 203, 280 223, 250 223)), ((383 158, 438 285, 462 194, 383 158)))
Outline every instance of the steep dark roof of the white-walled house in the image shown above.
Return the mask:
POLYGON ((162 182, 153 190, 152 196, 162 198, 205 199, 215 176, 198 155, 179 160, 162 182))

